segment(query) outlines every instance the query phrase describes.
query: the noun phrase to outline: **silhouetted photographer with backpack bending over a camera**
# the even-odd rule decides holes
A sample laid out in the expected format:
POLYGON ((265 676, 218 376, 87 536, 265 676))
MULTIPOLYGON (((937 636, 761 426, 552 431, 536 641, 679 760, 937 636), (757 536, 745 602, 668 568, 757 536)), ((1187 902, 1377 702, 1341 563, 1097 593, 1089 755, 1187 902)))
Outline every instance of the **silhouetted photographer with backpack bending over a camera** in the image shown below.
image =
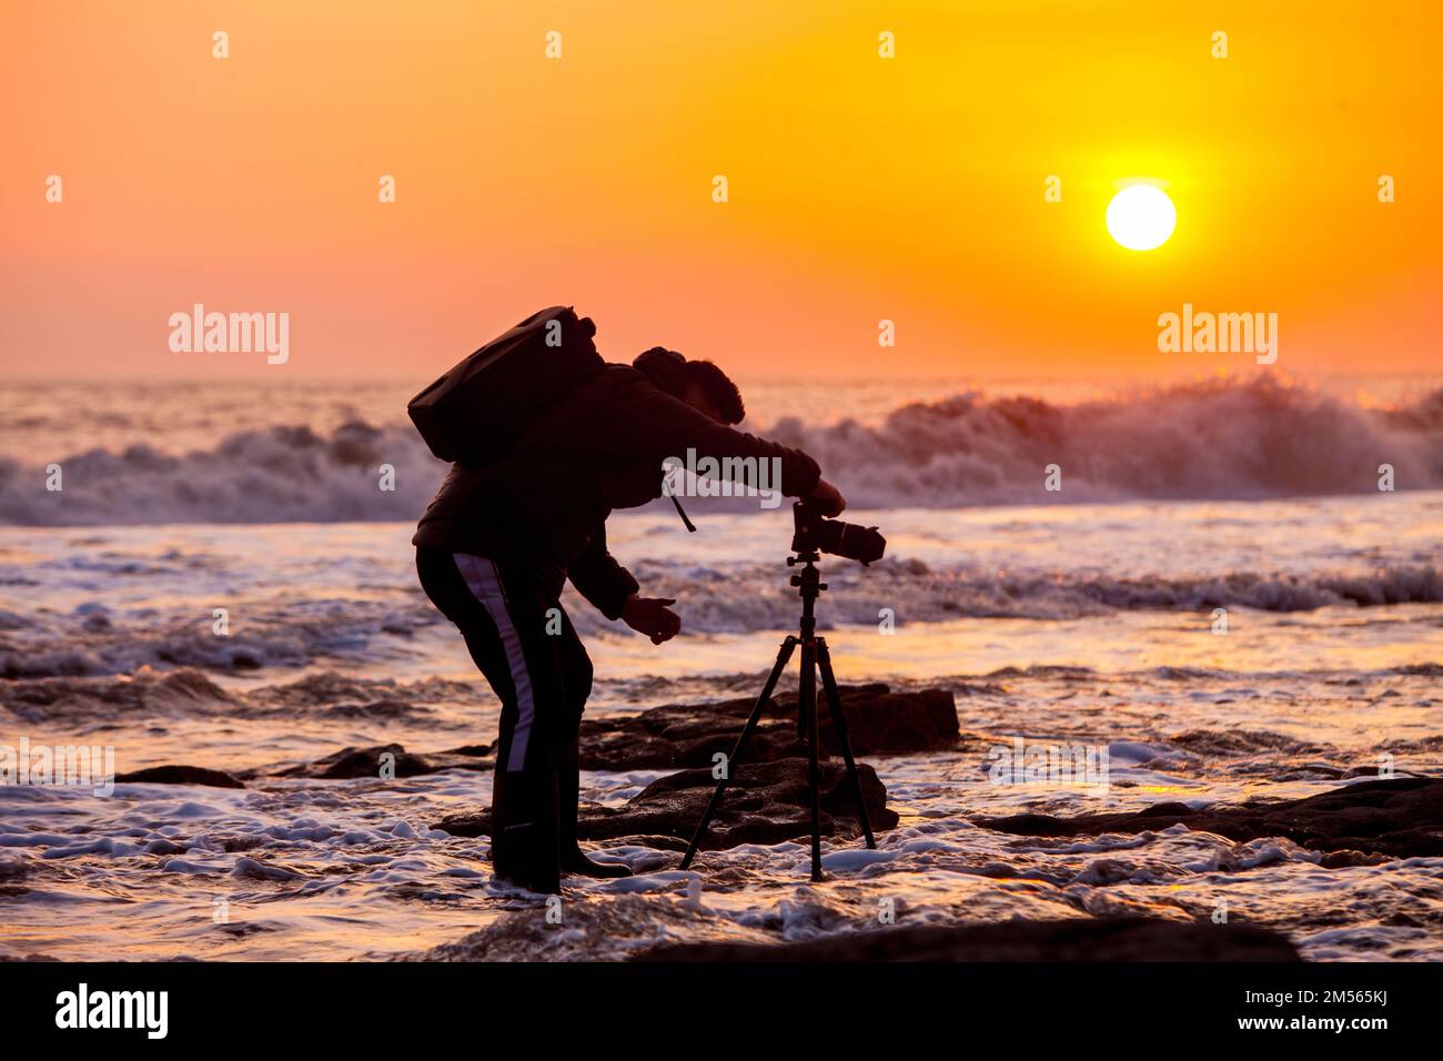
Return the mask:
MULTIPOLYGON (((632 365, 596 352, 595 325, 569 307, 522 320, 413 398, 413 422, 452 462, 416 531, 431 602, 460 629, 501 699, 492 866, 531 891, 563 873, 625 876, 577 844, 577 729, 592 663, 560 605, 567 579, 609 619, 655 644, 681 629, 606 549, 606 517, 662 495, 678 453, 722 473, 779 469, 771 484, 837 515, 841 494, 797 449, 736 430, 736 384, 709 361, 654 348, 632 365)), ((840 531, 838 531, 840 533, 840 531)))

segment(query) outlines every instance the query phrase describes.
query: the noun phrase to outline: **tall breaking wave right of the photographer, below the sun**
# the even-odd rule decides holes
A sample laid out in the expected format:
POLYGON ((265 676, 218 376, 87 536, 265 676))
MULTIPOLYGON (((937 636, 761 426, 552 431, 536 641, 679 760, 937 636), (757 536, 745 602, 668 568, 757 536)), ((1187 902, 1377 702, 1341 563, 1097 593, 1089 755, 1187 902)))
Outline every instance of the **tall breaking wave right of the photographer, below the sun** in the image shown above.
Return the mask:
POLYGON ((1443 486, 1443 390, 1372 410, 1274 377, 1072 406, 962 394, 879 427, 782 420, 772 436, 838 469, 859 507, 1359 494, 1384 463, 1398 489, 1443 486))

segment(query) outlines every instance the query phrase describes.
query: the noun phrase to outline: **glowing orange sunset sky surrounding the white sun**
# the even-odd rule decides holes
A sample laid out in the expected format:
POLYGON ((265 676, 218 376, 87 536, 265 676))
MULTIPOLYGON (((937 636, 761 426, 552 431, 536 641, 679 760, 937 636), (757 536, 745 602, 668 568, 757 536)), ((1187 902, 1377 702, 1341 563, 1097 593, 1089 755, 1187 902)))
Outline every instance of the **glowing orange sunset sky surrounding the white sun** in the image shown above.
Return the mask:
POLYGON ((1437 371, 1440 10, 6 1, 4 371, 424 381, 556 302, 745 378, 1245 368, 1157 351, 1183 302, 1278 313, 1293 372, 1437 371), (1105 232, 1127 178, 1157 251, 1105 232), (173 354, 195 302, 290 313, 289 362, 173 354))

